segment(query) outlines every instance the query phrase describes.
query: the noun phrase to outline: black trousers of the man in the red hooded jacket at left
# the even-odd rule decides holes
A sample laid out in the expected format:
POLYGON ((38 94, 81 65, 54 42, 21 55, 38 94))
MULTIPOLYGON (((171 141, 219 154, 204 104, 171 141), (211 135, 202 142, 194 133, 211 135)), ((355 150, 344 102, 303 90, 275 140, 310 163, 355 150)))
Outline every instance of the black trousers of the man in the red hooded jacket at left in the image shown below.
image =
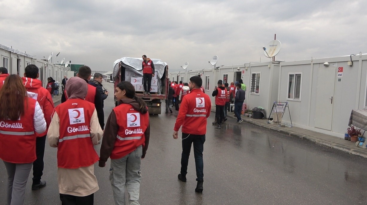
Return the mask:
POLYGON ((43 156, 45 153, 46 135, 36 138, 36 161, 33 162, 33 184, 39 184, 43 175, 43 156))

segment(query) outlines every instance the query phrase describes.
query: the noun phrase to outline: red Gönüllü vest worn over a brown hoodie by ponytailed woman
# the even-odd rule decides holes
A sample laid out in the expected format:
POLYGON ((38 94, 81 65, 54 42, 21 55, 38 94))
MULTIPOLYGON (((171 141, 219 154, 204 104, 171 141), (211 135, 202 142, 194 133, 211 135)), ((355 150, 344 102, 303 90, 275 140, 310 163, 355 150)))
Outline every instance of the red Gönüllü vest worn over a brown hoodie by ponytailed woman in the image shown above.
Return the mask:
POLYGON ((113 111, 116 115, 119 130, 110 158, 120 159, 140 145, 144 147, 144 133, 149 125, 149 113, 141 114, 129 104, 120 104, 113 108, 113 111))

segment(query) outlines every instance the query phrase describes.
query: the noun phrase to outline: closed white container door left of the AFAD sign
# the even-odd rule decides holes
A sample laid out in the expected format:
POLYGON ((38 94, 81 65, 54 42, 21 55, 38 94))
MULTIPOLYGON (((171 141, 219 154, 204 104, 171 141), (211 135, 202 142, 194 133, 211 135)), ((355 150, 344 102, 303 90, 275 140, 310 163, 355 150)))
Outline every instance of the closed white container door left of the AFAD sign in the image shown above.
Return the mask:
POLYGON ((315 127, 331 130, 334 106, 335 68, 319 68, 316 89, 315 127))

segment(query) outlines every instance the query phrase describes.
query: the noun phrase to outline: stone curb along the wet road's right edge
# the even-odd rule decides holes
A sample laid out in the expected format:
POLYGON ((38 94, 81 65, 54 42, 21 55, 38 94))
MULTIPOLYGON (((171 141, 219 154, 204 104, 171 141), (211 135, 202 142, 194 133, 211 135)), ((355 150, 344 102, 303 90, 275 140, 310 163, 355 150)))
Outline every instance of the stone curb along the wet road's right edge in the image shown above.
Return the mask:
MULTIPOLYGON (((213 109, 211 111, 215 112, 215 110, 213 110, 213 109)), ((236 118, 236 116, 234 116, 233 114, 231 114, 229 112, 228 112, 227 116, 231 117, 231 118, 236 118)), ((282 129, 281 127, 269 126, 267 124, 264 124, 264 123, 261 123, 261 122, 256 122, 256 121, 253 121, 251 119, 246 119, 245 118, 245 119, 243 119, 243 121, 246 122, 246 123, 250 123, 252 125, 256 125, 256 126, 259 126, 259 127, 264 127, 266 129, 269 129, 269 130, 272 130, 272 131, 275 131, 275 132, 278 132, 278 133, 281 133, 281 134, 285 134, 285 135, 290 136, 290 137, 296 137, 296 138, 299 138, 301 140, 308 140, 308 141, 311 141, 315 144, 323 145, 325 147, 330 147, 330 148, 333 148, 333 149, 336 149, 336 150, 339 150, 339 151, 342 151, 342 152, 346 152, 346 153, 349 153, 349 154, 352 154, 352 155, 357 155, 359 157, 367 158, 367 154, 365 154, 364 152, 361 152, 360 150, 353 149, 353 148, 350 148, 350 147, 346 147, 346 146, 341 145, 341 144, 335 144, 335 143, 331 143, 331 142, 326 141, 326 140, 321 140, 321 139, 316 138, 316 137, 308 136, 308 135, 297 133, 297 132, 292 132, 290 130, 282 129)))

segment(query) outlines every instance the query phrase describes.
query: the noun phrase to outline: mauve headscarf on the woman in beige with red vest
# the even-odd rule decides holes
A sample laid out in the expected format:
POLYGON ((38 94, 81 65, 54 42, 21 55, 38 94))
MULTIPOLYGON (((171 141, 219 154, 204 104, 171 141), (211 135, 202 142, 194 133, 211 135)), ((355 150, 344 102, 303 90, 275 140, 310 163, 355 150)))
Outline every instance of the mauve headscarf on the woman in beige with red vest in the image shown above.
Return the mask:
POLYGON ((68 96, 69 99, 84 99, 87 96, 88 84, 84 79, 72 77, 68 80, 68 83, 66 83, 65 90, 66 96, 68 96))

